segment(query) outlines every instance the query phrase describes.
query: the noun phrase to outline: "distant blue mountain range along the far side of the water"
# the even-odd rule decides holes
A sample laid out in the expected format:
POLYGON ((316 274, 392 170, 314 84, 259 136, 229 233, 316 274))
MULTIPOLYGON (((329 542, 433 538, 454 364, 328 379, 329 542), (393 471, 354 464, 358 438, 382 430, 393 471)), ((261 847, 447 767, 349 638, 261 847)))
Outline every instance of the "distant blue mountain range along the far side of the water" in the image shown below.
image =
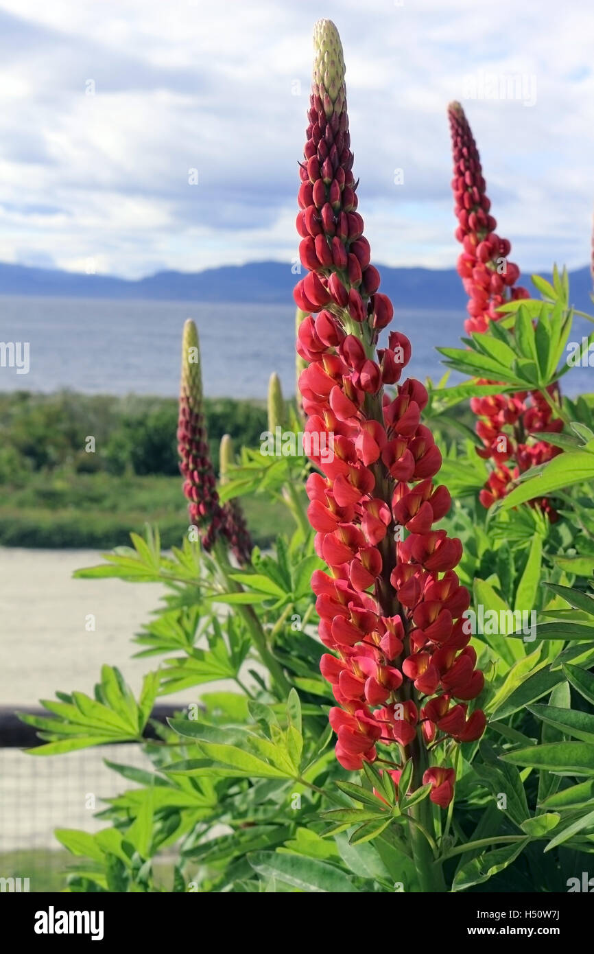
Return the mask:
MULTIPOLYGON (((379 266, 380 290, 397 308, 464 308, 466 296, 454 269, 379 266)), ((547 276, 548 277, 548 276, 547 276)), ((145 279, 116 279, 46 268, 0 263, 0 295, 36 295, 150 301, 241 301, 255 304, 293 302, 298 276, 278 261, 223 265, 203 272, 157 272, 145 279)), ((524 283, 532 289, 528 276, 524 283)), ((570 274, 571 300, 591 308, 592 280, 587 266, 570 274)))

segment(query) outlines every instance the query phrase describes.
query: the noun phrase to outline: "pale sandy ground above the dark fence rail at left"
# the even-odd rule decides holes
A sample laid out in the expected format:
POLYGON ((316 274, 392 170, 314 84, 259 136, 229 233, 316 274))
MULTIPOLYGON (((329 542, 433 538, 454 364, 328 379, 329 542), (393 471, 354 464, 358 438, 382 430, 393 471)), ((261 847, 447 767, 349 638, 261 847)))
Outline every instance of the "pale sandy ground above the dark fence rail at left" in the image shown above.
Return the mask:
POLYGON ((131 659, 131 638, 162 588, 121 580, 74 580, 101 563, 94 550, 0 548, 0 705, 36 705, 56 689, 91 692, 102 663, 118 666, 137 692, 151 660, 131 659), (95 631, 87 632, 88 615, 95 631))

